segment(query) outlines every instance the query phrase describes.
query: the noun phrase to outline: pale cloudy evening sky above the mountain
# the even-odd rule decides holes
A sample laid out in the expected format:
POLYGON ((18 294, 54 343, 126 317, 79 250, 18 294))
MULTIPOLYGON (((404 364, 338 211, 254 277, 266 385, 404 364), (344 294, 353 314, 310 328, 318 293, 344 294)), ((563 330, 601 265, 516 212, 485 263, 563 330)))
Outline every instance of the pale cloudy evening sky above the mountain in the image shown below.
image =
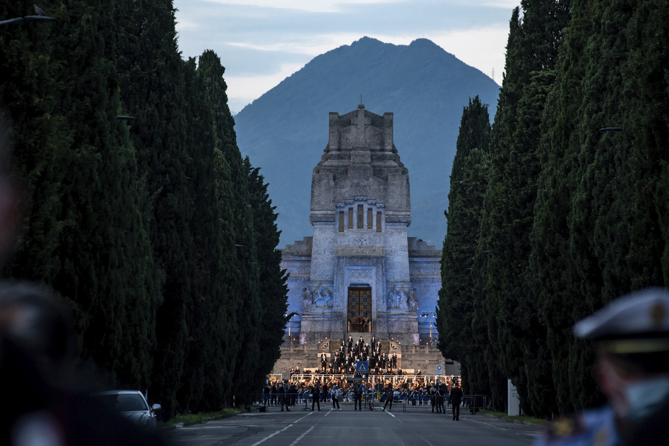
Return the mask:
POLYGON ((183 58, 213 49, 240 112, 316 55, 364 36, 425 37, 502 83, 508 21, 520 0, 175 0, 183 58))

